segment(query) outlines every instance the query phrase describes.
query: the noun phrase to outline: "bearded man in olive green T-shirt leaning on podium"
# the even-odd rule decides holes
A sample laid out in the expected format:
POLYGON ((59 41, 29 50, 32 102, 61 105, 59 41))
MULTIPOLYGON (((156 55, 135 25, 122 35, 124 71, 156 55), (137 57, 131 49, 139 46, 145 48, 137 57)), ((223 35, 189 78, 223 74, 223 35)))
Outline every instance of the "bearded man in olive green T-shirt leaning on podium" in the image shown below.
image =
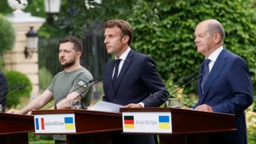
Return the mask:
MULTIPOLYGON (((70 103, 74 99, 81 100, 83 109, 89 107, 93 97, 93 86, 87 83, 89 83, 93 77, 87 69, 80 65, 82 51, 83 44, 81 39, 74 36, 61 39, 59 61, 64 70, 55 75, 47 90, 33 99, 26 107, 21 110, 11 109, 7 111, 7 113, 31 115, 31 110, 41 109, 51 100, 53 100, 54 103, 57 102, 57 109, 70 108, 70 103), (90 87, 90 89, 87 89, 88 87, 90 87), (65 95, 67 96, 63 97, 65 95)), ((54 106, 50 109, 54 109, 54 106)), ((55 141, 55 143, 66 143, 65 135, 55 135, 54 140, 60 140, 55 141)))

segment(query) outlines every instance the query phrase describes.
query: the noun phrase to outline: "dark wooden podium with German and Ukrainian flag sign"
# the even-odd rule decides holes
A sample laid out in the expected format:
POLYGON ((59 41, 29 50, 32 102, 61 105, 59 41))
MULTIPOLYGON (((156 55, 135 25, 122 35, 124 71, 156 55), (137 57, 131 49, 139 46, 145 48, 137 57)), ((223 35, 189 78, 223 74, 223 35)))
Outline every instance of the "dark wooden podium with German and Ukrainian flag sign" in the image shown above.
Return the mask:
POLYGON ((159 143, 207 144, 212 132, 236 131, 235 115, 177 108, 121 108, 123 134, 157 134, 159 143))

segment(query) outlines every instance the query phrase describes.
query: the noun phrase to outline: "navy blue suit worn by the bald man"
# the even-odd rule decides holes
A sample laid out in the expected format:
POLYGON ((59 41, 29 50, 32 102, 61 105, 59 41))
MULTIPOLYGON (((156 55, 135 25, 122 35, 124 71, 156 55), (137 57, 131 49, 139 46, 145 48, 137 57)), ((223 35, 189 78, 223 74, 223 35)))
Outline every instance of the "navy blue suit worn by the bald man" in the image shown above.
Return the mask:
MULTIPOLYGON (((203 73, 202 63, 200 73, 203 73)), ((199 101, 193 108, 206 104, 214 112, 235 114, 237 131, 212 133, 211 143, 247 144, 247 129, 244 110, 252 105, 253 87, 247 63, 238 55, 227 51, 220 52, 209 77, 201 88, 202 77, 197 83, 199 101)))

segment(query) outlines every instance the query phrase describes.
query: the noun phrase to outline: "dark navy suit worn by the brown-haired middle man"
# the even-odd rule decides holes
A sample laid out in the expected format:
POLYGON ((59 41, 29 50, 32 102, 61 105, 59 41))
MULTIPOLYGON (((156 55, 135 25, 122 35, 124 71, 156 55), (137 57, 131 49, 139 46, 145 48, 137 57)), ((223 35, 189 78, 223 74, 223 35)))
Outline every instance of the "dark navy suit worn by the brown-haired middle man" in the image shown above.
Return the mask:
MULTIPOLYGON (((165 85, 151 57, 131 50, 118 75, 119 84, 115 92, 112 85, 114 67, 115 61, 111 60, 106 63, 104 68, 104 74, 107 76, 103 79, 105 93, 103 101, 123 106, 139 102, 145 103, 145 107, 159 107, 163 105, 169 93, 166 90, 158 92, 165 89, 165 85), (158 93, 147 98, 150 93, 156 92, 158 93)), ((154 143, 152 135, 121 135, 121 137, 125 139, 121 143, 154 143)))

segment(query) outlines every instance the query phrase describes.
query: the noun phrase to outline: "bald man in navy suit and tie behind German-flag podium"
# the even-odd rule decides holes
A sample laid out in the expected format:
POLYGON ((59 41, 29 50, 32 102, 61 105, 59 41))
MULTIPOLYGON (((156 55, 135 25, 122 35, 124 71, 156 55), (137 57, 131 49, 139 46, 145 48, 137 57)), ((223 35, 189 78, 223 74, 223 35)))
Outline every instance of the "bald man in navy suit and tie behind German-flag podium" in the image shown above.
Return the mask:
MULTIPOLYGON (((217 20, 205 20, 195 30, 197 52, 204 55, 198 79, 199 111, 235 114, 237 131, 210 134, 210 143, 247 144, 245 109, 252 105, 253 87, 247 63, 223 47, 225 30, 217 20)), ((185 107, 186 109, 186 107, 185 107)))

